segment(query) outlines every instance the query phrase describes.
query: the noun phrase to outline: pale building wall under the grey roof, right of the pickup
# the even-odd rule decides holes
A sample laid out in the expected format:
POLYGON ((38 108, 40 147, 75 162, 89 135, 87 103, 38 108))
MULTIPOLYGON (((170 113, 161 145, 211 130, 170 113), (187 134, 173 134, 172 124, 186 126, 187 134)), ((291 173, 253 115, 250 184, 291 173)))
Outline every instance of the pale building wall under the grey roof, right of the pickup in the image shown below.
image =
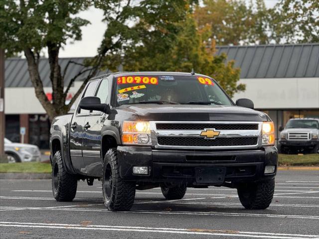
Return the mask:
POLYGON ((256 109, 319 109, 319 78, 241 79, 246 91, 233 100, 248 98, 256 109))

